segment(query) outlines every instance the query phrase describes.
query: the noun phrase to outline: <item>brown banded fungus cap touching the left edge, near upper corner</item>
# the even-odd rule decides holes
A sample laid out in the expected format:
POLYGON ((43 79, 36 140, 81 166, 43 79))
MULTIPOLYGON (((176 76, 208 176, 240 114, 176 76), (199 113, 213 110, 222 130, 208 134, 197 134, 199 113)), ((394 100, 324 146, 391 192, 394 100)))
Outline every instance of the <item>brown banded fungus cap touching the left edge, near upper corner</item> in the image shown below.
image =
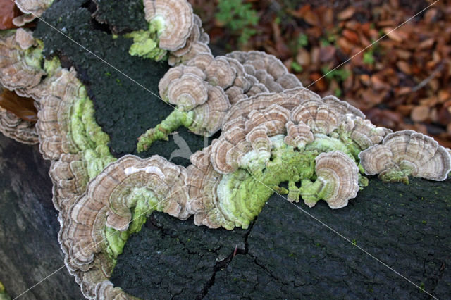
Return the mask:
POLYGON ((40 67, 42 56, 33 56, 34 49, 27 36, 32 39, 31 33, 23 29, 0 32, 0 84, 7 89, 35 87, 45 75, 40 67))

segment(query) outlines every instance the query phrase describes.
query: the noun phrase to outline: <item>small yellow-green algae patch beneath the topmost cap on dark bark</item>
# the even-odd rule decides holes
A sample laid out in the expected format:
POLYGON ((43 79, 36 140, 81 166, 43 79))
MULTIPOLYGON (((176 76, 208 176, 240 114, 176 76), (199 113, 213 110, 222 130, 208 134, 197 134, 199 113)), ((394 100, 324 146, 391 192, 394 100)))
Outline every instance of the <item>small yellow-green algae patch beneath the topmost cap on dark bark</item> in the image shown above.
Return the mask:
POLYGON ((124 35, 124 37, 133 39, 133 44, 130 46, 128 53, 132 56, 150 58, 154 61, 166 59, 167 51, 159 48, 158 37, 161 35, 163 29, 163 20, 154 18, 154 20, 149 23, 148 30, 137 30, 124 35))

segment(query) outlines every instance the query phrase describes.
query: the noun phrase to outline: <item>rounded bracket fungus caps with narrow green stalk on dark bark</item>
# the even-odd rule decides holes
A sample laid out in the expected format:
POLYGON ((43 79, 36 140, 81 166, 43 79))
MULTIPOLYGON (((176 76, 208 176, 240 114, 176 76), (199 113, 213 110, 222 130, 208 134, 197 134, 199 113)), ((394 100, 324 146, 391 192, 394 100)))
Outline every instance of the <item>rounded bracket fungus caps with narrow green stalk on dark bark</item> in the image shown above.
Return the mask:
POLYGON ((163 122, 139 137, 137 150, 148 149, 158 139, 168 139, 180 126, 198 135, 214 135, 223 125, 231 103, 261 92, 268 90, 255 77, 247 75, 235 59, 198 54, 186 65, 168 70, 160 80, 161 99, 176 108, 163 122))

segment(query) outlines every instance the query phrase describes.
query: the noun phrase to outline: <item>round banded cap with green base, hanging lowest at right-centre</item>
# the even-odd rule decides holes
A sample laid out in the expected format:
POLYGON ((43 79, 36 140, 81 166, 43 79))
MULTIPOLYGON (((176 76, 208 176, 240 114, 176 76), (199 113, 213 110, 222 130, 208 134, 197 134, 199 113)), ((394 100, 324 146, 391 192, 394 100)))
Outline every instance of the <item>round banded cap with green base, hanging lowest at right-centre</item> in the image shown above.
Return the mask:
POLYGON ((315 158, 314 183, 302 180, 301 195, 305 204, 312 207, 316 201, 327 201, 330 208, 347 206, 349 199, 359 192, 359 168, 341 151, 321 153, 315 158))

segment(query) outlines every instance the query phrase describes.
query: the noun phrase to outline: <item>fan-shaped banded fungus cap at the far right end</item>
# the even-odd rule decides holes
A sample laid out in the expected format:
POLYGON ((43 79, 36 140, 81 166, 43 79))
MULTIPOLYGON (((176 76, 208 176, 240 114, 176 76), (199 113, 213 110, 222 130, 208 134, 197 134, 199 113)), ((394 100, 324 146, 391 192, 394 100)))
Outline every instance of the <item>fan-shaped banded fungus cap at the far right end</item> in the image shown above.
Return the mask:
POLYGON ((360 152, 367 175, 380 174, 385 181, 408 182, 407 177, 429 180, 445 180, 451 170, 448 151, 432 137, 413 130, 393 132, 374 145, 360 152))

